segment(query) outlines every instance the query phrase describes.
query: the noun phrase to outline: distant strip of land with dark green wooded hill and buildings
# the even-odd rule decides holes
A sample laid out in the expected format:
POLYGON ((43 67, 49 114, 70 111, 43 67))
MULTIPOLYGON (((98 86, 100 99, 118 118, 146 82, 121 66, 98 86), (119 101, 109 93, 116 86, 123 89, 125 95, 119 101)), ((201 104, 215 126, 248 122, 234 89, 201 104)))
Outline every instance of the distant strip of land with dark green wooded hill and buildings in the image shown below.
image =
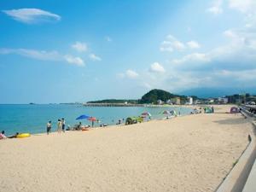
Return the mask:
POLYGON ((172 94, 166 90, 150 90, 144 94, 141 99, 105 99, 99 101, 90 101, 86 105, 93 104, 123 104, 123 105, 143 105, 143 104, 226 104, 226 103, 246 103, 256 102, 256 96, 246 94, 235 94, 232 96, 222 96, 218 98, 199 98, 197 96, 182 96, 172 94))

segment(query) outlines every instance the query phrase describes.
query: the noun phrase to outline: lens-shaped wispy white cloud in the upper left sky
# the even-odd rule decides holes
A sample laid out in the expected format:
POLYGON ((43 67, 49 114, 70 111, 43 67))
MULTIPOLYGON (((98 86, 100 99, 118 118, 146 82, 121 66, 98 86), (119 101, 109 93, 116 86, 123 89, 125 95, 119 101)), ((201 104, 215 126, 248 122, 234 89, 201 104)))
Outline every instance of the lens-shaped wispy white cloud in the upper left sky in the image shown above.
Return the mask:
POLYGON ((12 9, 2 11, 14 20, 18 20, 26 24, 61 20, 60 15, 55 15, 42 9, 12 9))

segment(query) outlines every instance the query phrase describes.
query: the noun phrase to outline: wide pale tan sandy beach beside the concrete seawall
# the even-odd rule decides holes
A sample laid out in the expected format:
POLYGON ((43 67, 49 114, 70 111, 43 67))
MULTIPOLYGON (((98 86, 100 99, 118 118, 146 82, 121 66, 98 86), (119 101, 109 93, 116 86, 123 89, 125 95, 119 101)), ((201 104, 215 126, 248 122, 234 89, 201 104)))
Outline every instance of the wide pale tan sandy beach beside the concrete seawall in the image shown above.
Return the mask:
POLYGON ((0 141, 0 191, 214 191, 252 131, 229 108, 0 141))

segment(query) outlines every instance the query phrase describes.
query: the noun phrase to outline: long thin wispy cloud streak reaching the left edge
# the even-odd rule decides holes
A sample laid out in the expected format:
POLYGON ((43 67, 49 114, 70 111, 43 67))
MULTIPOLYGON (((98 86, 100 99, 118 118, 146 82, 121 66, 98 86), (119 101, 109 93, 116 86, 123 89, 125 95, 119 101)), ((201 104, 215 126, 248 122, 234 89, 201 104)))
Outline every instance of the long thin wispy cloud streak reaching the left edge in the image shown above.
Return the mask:
POLYGON ((84 60, 73 55, 61 55, 58 51, 45 51, 36 49, 0 49, 1 55, 16 54, 40 61, 67 61, 79 67, 84 66, 84 60))

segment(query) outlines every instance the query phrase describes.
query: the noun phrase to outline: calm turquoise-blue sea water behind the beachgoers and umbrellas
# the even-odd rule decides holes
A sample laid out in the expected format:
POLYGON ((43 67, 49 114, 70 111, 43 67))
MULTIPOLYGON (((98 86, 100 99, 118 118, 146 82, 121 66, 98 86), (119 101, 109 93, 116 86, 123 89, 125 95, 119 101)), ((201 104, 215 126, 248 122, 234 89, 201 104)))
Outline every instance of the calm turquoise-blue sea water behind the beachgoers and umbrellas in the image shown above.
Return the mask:
MULTIPOLYGON (((191 112, 189 108, 178 107, 84 107, 83 105, 73 104, 1 104, 0 105, 0 131, 4 130, 7 135, 15 132, 42 133, 46 131, 46 124, 52 121, 52 131, 56 131, 57 120, 64 118, 67 125, 79 124, 91 125, 86 119, 76 120, 81 114, 96 117, 100 120, 95 123, 115 125, 119 119, 139 116, 143 112, 151 113, 151 119, 164 118, 164 110, 175 110, 181 115, 191 112)), ((123 122, 123 121, 122 121, 123 122)))

